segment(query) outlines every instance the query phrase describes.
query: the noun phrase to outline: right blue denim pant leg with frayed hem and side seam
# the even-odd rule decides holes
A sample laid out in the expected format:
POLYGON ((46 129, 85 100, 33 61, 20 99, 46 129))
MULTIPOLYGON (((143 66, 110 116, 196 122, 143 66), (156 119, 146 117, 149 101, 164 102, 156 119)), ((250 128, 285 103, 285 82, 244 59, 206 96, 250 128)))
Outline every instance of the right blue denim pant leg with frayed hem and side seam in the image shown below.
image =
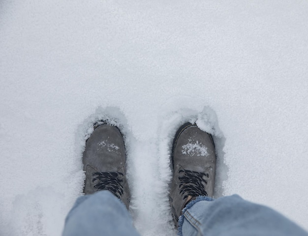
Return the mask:
POLYGON ((179 219, 182 236, 308 236, 277 211, 238 195, 216 200, 199 196, 179 219))

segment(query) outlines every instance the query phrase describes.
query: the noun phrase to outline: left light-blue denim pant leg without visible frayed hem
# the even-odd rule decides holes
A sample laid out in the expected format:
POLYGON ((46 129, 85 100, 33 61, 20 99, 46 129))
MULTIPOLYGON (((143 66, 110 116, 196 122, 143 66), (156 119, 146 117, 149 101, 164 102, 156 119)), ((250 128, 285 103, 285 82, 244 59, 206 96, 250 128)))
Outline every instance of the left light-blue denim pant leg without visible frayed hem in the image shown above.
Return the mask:
POLYGON ((62 236, 139 236, 123 202, 107 190, 79 197, 62 236))

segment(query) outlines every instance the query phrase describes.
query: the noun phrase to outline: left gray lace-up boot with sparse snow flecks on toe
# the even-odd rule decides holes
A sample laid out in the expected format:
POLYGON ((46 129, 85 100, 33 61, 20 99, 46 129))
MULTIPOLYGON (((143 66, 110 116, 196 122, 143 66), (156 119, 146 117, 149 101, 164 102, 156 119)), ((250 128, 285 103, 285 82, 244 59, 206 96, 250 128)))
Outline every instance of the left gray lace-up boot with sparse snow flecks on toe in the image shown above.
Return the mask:
POLYGON ((116 126, 97 123, 83 154, 85 194, 109 190, 127 207, 130 194, 125 177, 125 146, 116 126))

